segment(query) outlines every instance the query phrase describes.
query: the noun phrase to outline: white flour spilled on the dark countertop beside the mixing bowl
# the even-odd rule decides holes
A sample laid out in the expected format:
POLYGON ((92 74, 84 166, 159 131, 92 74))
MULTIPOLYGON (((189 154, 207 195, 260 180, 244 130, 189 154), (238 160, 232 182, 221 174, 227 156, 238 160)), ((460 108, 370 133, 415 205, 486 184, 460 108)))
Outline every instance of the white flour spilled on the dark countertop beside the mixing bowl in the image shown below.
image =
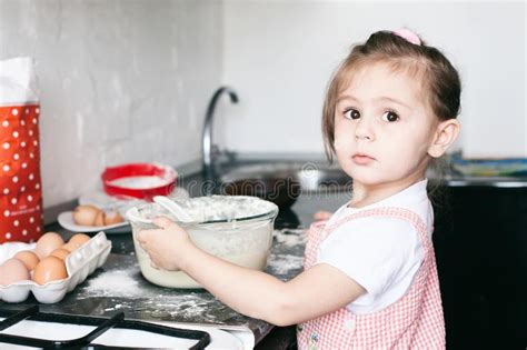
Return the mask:
MULTIPOLYGON (((266 272, 287 281, 301 272, 305 230, 275 230, 266 272)), ((131 318, 160 321, 246 324, 247 318, 197 289, 155 286, 141 274, 137 257, 110 256, 102 270, 78 287, 72 303, 97 306, 97 314, 123 311, 131 318)))

